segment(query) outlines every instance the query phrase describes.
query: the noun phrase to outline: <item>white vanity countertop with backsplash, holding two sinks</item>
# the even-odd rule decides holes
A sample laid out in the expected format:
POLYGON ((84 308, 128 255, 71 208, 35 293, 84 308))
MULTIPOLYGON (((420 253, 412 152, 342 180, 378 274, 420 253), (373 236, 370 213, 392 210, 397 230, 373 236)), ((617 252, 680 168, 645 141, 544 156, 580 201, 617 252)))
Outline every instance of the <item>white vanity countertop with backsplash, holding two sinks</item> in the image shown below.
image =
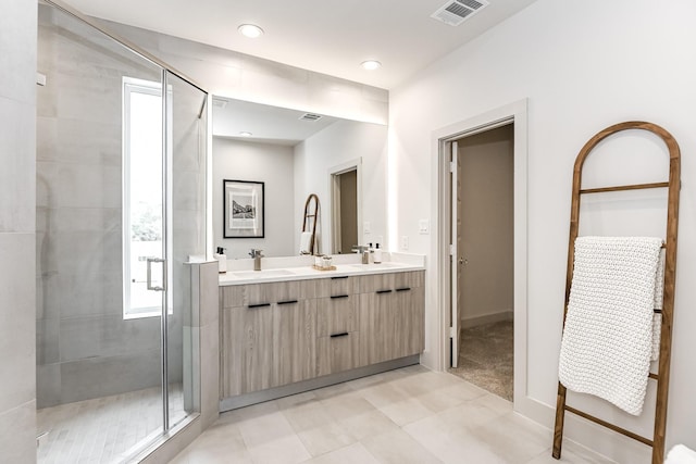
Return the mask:
POLYGON ((335 271, 313 268, 313 256, 264 258, 261 261, 261 271, 252 271, 253 260, 228 260, 228 271, 220 274, 220 285, 260 284, 425 269, 425 256, 423 255, 385 253, 384 258, 385 261, 380 264, 360 264, 358 254, 334 255, 335 271))

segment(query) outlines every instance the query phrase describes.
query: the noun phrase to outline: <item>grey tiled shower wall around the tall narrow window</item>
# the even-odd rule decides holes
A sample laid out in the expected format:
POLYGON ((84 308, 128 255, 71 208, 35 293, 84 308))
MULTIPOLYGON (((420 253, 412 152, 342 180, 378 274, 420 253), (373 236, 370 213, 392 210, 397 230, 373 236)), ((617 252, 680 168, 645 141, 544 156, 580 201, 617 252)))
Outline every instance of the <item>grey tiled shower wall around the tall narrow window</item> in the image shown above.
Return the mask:
MULTIPOLYGON (((37 406, 160 384, 160 319, 122 317, 122 76, 160 71, 39 7, 37 406), (89 39, 85 39, 89 37, 89 39)), ((182 352, 175 315, 171 352, 182 352)), ((181 379, 171 360, 171 379, 181 379)))

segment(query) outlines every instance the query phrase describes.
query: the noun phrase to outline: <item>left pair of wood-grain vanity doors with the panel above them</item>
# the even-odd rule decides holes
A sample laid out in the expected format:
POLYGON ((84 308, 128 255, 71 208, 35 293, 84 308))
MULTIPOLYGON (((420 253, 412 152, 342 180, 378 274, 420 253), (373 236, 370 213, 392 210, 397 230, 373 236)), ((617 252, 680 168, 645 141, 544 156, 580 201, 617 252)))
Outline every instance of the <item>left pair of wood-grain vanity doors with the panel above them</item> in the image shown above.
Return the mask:
POLYGON ((221 288, 221 398, 311 378, 315 303, 299 280, 221 288))

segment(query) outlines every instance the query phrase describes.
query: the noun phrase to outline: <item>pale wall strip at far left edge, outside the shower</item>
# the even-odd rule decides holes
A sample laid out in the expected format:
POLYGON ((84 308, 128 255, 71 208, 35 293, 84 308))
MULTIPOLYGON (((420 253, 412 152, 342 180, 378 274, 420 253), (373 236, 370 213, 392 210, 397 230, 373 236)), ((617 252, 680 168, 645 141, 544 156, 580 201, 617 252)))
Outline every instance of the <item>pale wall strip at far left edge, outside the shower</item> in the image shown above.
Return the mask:
POLYGON ((36 462, 37 3, 0 15, 0 455, 36 462))

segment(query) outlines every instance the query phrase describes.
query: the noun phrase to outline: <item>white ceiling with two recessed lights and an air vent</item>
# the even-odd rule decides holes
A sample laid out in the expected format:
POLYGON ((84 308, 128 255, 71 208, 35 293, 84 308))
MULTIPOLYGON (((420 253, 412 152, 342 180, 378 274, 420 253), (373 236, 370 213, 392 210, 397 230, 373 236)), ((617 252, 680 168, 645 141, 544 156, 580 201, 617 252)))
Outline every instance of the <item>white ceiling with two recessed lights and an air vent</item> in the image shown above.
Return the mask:
POLYGON ((489 0, 459 26, 430 17, 445 0, 65 0, 80 12, 391 89, 535 0, 489 0), (244 23, 265 34, 248 39, 244 23), (378 60, 377 71, 360 63, 378 60))

